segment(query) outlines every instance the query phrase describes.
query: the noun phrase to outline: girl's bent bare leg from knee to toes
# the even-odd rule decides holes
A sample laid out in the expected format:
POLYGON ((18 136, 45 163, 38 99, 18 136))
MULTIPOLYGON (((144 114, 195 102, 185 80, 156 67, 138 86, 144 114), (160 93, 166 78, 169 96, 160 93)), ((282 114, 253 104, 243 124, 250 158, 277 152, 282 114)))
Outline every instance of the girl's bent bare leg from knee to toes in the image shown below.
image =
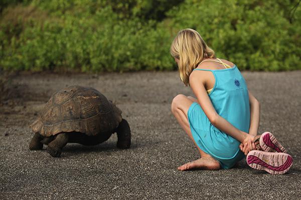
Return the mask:
POLYGON ((193 102, 197 102, 197 99, 191 97, 191 96, 185 96, 183 94, 178 94, 172 102, 172 112, 175 115, 176 119, 182 126, 182 128, 185 130, 185 132, 188 134, 190 139, 194 142, 196 147, 198 148, 201 158, 197 159, 192 162, 188 162, 186 164, 183 164, 182 166, 179 166, 179 170, 188 170, 188 169, 193 169, 193 168, 203 168, 203 169, 212 169, 216 170, 220 168, 219 162, 214 159, 211 155, 205 153, 203 150, 199 148, 199 146, 196 144, 191 130, 190 130, 190 125, 188 121, 188 109, 190 105, 193 102))

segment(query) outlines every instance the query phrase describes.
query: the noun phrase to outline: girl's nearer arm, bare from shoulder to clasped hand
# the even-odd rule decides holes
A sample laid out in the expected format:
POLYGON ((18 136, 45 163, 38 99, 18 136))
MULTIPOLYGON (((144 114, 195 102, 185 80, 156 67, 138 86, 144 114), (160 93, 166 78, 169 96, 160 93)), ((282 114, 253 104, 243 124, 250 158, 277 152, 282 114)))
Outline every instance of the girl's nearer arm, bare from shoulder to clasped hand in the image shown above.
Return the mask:
POLYGON ((253 142, 253 135, 237 129, 216 112, 204 86, 205 78, 204 76, 200 76, 199 74, 200 71, 193 71, 189 76, 189 84, 210 122, 218 129, 224 131, 225 133, 243 143, 244 146, 242 151, 245 154, 249 150, 256 149, 253 142))

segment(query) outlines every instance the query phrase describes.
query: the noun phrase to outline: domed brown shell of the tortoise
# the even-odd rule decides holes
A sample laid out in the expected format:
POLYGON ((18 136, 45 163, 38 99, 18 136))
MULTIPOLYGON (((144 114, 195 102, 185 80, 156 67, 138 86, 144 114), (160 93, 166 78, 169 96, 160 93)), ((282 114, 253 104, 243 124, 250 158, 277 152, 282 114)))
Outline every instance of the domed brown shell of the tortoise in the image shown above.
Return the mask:
POLYGON ((113 132, 121 120, 121 110, 102 93, 73 85, 55 92, 31 127, 43 136, 72 131, 96 135, 113 132))

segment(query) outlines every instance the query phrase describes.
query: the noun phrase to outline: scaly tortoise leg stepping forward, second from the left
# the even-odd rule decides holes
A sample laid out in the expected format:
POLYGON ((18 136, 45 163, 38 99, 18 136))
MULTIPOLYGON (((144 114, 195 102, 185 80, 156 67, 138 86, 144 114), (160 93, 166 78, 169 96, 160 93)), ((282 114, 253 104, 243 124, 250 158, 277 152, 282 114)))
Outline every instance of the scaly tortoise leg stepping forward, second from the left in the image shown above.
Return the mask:
POLYGON ((68 134, 67 132, 62 132, 57 134, 56 138, 51 141, 47 146, 48 153, 53 157, 59 157, 62 152, 62 148, 68 142, 68 134))

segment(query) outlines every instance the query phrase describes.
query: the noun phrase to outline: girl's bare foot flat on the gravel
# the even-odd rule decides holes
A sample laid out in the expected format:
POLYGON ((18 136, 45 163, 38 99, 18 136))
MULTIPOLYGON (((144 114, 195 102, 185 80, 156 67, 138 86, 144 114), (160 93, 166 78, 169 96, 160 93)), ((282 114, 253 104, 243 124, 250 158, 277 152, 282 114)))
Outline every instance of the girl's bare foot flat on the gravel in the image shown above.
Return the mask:
POLYGON ((213 157, 201 157, 200 159, 179 166, 178 170, 181 171, 190 170, 190 169, 218 170, 220 168, 221 168, 220 163, 213 157))

